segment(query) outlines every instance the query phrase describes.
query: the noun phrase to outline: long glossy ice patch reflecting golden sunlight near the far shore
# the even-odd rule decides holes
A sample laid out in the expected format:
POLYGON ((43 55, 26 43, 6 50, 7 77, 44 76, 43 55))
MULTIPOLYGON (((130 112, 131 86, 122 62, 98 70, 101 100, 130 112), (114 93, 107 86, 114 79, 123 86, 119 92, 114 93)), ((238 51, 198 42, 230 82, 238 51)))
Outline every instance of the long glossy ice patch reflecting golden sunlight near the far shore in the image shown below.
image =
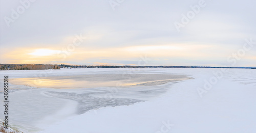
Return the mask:
POLYGON ((72 75, 74 73, 70 73, 70 75, 65 76, 51 76, 47 74, 44 77, 14 78, 12 83, 37 88, 84 89, 116 87, 120 84, 121 86, 154 86, 188 78, 184 75, 172 74, 87 74, 84 73, 84 69, 79 70, 79 75, 72 75))

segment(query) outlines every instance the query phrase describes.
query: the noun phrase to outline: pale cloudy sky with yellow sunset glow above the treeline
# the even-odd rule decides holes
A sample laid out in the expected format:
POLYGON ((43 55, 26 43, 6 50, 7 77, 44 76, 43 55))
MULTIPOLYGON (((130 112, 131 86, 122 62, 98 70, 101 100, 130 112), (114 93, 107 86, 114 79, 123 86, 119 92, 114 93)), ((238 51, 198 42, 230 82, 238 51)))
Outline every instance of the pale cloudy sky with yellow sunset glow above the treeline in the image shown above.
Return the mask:
POLYGON ((252 0, 0 1, 0 63, 256 67, 252 0))

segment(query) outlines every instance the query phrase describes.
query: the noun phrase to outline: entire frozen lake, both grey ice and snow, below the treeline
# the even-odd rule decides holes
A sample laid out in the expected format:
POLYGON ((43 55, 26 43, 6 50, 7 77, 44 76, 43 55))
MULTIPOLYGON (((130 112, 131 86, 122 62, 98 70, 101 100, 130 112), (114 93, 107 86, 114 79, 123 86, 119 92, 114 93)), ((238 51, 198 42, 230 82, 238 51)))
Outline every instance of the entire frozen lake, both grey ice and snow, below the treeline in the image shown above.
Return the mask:
POLYGON ((159 132, 166 122, 172 123, 165 128, 169 132, 256 131, 253 69, 1 71, 4 75, 11 84, 10 122, 25 132, 159 132))

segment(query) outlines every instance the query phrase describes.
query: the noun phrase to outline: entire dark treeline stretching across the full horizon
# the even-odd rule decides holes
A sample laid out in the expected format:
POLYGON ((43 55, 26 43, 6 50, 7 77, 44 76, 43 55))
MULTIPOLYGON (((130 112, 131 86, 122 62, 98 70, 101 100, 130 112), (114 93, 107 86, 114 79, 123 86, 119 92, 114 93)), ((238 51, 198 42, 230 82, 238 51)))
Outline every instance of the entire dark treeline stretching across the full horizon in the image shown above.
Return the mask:
POLYGON ((47 65, 47 64, 0 64, 1 70, 44 70, 60 68, 244 68, 256 67, 209 67, 209 66, 109 66, 109 65, 47 65))

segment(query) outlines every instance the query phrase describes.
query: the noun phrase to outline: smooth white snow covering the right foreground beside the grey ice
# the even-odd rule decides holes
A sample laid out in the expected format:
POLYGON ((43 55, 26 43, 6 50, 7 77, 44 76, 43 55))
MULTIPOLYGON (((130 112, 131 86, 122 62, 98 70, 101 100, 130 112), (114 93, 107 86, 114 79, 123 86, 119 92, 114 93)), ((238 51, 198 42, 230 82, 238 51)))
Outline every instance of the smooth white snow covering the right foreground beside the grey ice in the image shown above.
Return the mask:
POLYGON ((89 111, 42 132, 256 132, 256 71, 229 69, 201 98, 197 89, 219 70, 158 69, 194 79, 152 100, 89 111))

